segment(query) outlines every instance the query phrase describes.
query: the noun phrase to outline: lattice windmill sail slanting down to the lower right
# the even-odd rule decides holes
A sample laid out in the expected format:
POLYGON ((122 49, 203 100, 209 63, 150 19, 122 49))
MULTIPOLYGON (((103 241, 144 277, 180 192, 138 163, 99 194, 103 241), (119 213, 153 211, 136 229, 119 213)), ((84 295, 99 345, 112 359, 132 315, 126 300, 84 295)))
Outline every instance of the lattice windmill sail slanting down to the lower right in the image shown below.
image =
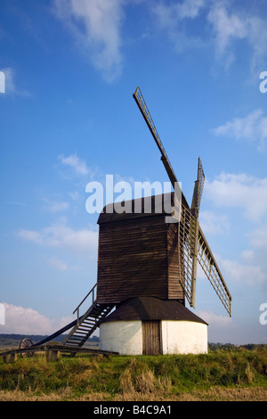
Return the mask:
POLYGON ((226 308, 231 316, 231 293, 224 282, 223 275, 221 274, 200 226, 198 226, 198 263, 214 287, 214 291, 217 293, 219 299, 223 302, 224 308, 226 308))

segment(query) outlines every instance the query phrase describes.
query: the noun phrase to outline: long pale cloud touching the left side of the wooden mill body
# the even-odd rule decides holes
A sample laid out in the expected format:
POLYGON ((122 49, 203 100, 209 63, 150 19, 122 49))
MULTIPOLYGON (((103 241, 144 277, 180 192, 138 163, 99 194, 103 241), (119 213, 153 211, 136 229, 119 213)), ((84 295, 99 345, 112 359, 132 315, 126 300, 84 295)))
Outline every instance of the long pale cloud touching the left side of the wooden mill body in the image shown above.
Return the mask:
POLYGON ((98 233, 89 229, 74 230, 65 225, 45 227, 43 230, 23 230, 18 233, 20 238, 35 242, 41 246, 63 249, 96 258, 98 233))

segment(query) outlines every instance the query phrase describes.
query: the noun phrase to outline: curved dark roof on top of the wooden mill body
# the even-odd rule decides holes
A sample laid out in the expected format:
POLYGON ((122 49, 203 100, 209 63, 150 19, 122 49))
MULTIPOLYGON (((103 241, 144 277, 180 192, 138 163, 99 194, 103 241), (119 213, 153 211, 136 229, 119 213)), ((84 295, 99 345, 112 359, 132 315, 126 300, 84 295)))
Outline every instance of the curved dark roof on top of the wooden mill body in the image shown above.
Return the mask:
POLYGON ((110 203, 106 205, 98 218, 98 224, 124 221, 126 219, 152 216, 171 216, 174 212, 174 193, 147 196, 135 200, 110 203), (119 205, 120 212, 116 205, 119 205), (171 206, 171 207, 170 207, 171 206), (122 207, 124 208, 121 211, 122 207))

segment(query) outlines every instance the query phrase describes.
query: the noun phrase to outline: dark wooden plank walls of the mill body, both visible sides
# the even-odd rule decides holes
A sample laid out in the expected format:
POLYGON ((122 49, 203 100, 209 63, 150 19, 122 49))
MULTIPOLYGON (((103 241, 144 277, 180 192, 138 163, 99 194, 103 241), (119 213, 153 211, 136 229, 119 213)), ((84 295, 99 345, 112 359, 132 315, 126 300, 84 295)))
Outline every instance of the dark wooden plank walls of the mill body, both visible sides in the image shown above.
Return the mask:
MULTIPOLYGON (((142 208, 143 204, 144 201, 142 208)), ((131 205, 133 208, 134 201, 131 205)), ((166 224, 166 213, 102 212, 98 224, 99 303, 117 304, 134 297, 151 296, 180 300, 184 304, 178 275, 177 223, 166 224)))

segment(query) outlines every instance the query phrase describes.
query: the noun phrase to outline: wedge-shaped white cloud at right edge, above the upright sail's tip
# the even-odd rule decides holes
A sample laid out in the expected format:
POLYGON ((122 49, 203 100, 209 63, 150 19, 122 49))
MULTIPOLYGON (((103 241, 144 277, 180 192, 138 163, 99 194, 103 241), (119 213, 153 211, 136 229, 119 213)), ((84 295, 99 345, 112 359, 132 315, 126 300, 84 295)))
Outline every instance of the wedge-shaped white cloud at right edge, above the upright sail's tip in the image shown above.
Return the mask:
POLYGON ((267 139, 267 117, 258 109, 244 118, 234 118, 212 130, 215 136, 228 136, 238 140, 250 140, 258 143, 262 151, 267 139))

